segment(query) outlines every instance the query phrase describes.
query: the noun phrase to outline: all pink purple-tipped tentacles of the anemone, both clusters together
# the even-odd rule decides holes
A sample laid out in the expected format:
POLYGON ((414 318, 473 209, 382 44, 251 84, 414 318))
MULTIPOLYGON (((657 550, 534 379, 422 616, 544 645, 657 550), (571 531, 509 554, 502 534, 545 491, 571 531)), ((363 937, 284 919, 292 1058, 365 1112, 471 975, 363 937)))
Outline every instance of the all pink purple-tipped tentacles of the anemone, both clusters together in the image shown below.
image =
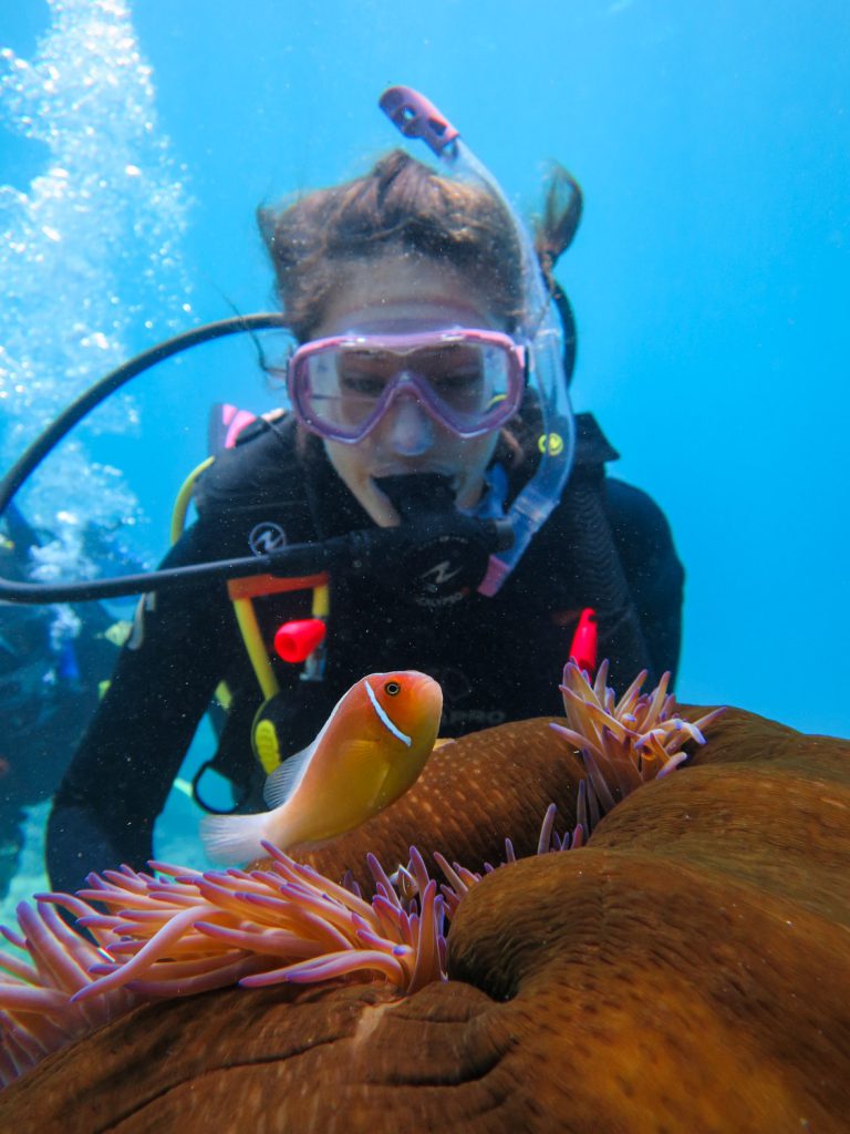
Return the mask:
MULTIPOLYGON (((583 846, 618 798, 686 759, 682 743, 704 743, 700 729, 716 716, 696 725, 671 717, 666 677, 641 697, 640 675, 615 704, 606 674, 603 665, 592 686, 572 663, 564 670, 569 727, 552 727, 580 750, 587 779, 571 831, 559 837, 554 804, 546 811, 538 854, 583 846)), ((145 1000, 352 975, 385 980, 403 995, 445 979, 447 921, 483 874, 435 853, 447 880, 437 886, 415 847, 390 877, 368 855, 374 895, 366 900, 350 877, 333 882, 263 846, 263 869, 198 872, 152 862, 152 873, 122 866, 91 874, 76 896, 37 895, 35 909, 22 904, 20 932, 2 930, 29 960, 0 955, 0 1082, 145 1000)), ((504 847, 499 865, 516 861, 509 839, 504 847)), ((485 863, 483 872, 494 869, 485 863)))

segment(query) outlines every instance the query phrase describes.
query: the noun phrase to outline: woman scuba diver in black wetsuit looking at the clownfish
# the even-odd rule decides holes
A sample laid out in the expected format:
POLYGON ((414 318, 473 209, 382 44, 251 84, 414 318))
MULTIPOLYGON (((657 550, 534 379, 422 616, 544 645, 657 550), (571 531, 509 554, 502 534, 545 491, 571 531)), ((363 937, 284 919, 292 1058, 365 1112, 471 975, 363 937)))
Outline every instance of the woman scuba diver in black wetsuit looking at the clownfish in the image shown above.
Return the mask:
POLYGON ((675 670, 683 572, 668 523, 606 474, 615 450, 569 406, 575 325, 553 269, 579 221, 577 184, 555 169, 532 239, 433 107, 407 88, 382 105, 437 168, 399 149, 260 210, 297 344, 281 367, 291 409, 245 425, 192 481, 197 518, 158 577, 197 577, 139 601, 56 795, 57 889, 144 868, 216 689, 228 712, 197 796, 212 768, 233 810, 256 811, 265 777, 369 671, 436 678, 452 737, 558 714, 570 655, 610 659, 614 687, 675 670), (476 524, 495 533, 488 547, 464 534, 476 524), (384 553, 388 532, 403 553, 384 553), (340 547, 298 577, 196 569, 340 547))

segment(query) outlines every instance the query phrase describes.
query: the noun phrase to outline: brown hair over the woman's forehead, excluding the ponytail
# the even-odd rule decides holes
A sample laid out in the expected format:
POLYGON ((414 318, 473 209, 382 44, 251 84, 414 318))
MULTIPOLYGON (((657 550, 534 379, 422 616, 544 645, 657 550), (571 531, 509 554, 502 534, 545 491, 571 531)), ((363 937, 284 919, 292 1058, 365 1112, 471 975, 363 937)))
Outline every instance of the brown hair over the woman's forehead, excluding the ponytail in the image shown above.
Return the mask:
POLYGON ((508 211, 486 189, 440 177, 403 150, 365 177, 282 210, 260 209, 278 295, 304 342, 321 322, 341 263, 409 253, 475 281, 510 330, 521 305, 521 255, 508 211))

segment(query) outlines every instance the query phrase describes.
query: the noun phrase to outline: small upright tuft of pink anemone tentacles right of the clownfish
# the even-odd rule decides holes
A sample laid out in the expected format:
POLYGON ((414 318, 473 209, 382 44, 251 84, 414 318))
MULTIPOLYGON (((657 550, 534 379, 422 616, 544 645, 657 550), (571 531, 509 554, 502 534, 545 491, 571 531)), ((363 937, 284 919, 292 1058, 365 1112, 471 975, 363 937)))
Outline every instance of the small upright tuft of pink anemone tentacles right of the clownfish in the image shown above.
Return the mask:
POLYGON ((568 661, 560 686, 567 727, 551 725, 575 745, 587 771, 585 835, 641 784, 683 763, 688 759, 683 745, 705 744, 704 729, 723 712, 715 709, 695 722, 685 720, 675 711, 675 696, 668 693, 670 674, 663 675, 652 693, 640 693, 646 670, 618 701, 605 685, 607 669, 603 661, 592 685, 587 674, 568 661))

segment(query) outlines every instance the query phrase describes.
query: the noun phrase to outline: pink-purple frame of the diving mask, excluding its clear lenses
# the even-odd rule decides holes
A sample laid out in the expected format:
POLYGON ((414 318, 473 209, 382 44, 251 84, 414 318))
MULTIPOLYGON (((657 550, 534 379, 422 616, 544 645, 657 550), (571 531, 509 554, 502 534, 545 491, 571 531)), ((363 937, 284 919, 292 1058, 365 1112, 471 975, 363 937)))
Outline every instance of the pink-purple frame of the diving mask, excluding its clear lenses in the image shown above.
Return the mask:
POLYGON ((501 331, 477 330, 471 328, 452 328, 451 330, 425 331, 416 335, 340 335, 332 338, 314 339, 300 346, 289 359, 287 371, 287 388, 289 399, 298 420, 313 433, 329 441, 342 445, 357 445, 384 417, 392 403, 405 392, 414 396, 425 412, 440 425, 445 426, 456 437, 470 439, 492 433, 505 424, 519 409, 526 383, 526 350, 515 342, 510 336, 501 331), (420 349, 439 349, 441 346, 467 345, 491 347, 502 352, 507 362, 508 389, 495 406, 484 413, 471 425, 452 412, 433 389, 428 379, 415 371, 406 370, 403 356, 420 349), (313 359, 323 354, 341 354, 346 348, 386 352, 399 357, 399 367, 380 397, 374 409, 362 422, 350 430, 325 421, 316 414, 309 396, 309 365, 313 359), (409 392, 408 392, 409 391, 409 392))

